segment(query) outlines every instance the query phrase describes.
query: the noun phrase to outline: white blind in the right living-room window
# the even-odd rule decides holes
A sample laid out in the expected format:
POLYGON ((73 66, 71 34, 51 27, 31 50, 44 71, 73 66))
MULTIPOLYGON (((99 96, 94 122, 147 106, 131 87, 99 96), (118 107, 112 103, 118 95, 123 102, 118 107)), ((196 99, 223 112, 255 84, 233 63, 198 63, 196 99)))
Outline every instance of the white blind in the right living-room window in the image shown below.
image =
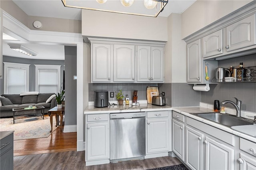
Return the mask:
POLYGON ((39 93, 58 93, 58 69, 38 69, 39 93))

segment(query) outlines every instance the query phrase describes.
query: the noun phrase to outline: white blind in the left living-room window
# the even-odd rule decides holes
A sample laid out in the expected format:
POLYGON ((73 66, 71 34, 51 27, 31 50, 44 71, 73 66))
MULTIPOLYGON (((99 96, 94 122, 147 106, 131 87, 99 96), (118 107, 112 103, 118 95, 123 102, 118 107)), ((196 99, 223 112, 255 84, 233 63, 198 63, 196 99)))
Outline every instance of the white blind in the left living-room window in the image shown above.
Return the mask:
POLYGON ((8 67, 7 94, 26 92, 26 69, 8 67))

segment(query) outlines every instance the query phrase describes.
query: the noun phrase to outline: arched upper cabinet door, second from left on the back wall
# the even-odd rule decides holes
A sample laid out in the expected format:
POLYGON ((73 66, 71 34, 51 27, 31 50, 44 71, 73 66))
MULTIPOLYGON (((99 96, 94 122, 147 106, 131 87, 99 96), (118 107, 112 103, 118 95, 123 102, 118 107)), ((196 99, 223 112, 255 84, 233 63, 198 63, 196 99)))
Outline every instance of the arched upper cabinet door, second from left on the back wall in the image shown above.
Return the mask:
POLYGON ((114 81, 134 82, 134 45, 114 45, 114 81))

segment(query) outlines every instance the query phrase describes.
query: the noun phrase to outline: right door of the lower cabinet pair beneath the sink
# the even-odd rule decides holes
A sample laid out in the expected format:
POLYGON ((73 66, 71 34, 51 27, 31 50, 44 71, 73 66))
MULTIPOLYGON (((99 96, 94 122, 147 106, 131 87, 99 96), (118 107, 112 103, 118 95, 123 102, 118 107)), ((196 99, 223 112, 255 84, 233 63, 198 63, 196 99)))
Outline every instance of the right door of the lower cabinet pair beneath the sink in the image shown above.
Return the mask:
POLYGON ((234 149, 206 136, 205 170, 234 170, 234 149))

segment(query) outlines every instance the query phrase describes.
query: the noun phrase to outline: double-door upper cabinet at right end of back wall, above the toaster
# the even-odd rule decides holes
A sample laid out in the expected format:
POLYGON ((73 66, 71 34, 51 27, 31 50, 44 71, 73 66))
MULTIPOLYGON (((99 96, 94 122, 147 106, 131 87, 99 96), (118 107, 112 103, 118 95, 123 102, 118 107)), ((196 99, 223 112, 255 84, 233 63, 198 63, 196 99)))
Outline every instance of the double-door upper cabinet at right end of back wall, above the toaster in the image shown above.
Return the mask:
POLYGON ((137 47, 137 81, 164 81, 164 48, 138 46, 137 47))

